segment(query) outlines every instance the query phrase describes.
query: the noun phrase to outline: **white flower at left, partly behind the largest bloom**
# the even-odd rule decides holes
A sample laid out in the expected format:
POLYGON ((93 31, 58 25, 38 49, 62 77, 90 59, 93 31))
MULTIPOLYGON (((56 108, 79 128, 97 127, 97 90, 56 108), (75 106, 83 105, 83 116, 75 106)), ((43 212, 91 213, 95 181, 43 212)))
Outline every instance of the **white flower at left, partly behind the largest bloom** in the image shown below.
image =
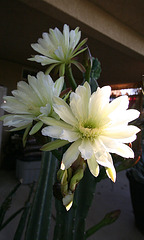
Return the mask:
MULTIPOLYGON (((50 75, 39 72, 37 77, 28 76, 28 83, 20 81, 13 96, 4 97, 2 108, 10 113, 4 115, 4 126, 24 129, 33 120, 39 121, 39 116, 53 116, 53 97, 58 97, 63 87, 64 79, 60 77, 53 82, 50 75)), ((55 114, 56 115, 56 114, 55 114)), ((37 128, 42 122, 37 123, 37 128)))

